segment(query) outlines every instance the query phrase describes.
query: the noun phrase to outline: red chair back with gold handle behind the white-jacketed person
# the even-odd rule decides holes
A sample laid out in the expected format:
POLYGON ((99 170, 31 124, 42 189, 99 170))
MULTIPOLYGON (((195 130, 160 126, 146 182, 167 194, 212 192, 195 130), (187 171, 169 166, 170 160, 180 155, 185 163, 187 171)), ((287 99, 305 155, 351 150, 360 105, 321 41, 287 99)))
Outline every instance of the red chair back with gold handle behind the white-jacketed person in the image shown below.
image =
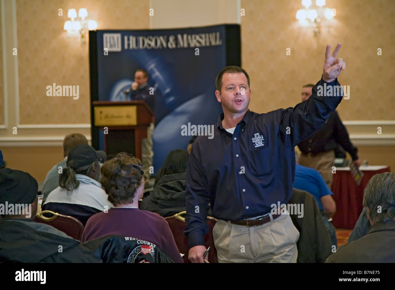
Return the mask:
POLYGON ((53 226, 54 228, 66 233, 71 238, 81 241, 84 225, 75 217, 71 217, 70 215, 61 215, 60 213, 55 213, 50 210, 44 210, 36 215, 34 221, 53 226), (44 214, 52 216, 46 217, 44 214))

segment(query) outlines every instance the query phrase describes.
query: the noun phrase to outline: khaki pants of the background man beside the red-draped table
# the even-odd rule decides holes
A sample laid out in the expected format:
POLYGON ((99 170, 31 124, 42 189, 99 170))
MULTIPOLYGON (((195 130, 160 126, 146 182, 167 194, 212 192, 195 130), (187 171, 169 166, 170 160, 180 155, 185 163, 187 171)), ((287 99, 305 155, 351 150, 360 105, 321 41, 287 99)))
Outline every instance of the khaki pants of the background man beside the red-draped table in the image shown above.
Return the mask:
POLYGON ((325 180, 325 183, 328 185, 329 189, 332 190, 332 166, 335 166, 334 150, 320 152, 311 157, 309 157, 308 154, 302 153, 299 164, 305 167, 313 168, 320 172, 325 180))

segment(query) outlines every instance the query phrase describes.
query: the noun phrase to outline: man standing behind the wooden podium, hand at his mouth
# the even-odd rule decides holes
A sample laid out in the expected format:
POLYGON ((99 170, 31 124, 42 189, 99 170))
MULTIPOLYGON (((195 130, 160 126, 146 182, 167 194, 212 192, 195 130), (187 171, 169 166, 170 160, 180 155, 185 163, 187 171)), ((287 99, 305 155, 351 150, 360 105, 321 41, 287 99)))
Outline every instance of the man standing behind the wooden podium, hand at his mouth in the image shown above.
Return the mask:
MULTIPOLYGON (((128 95, 128 101, 143 100, 150 107, 152 112, 155 112, 155 96, 154 88, 148 85, 148 73, 145 69, 137 69, 134 74, 134 83, 132 84, 132 92, 128 95)), ((150 167, 152 166, 152 134, 155 129, 155 118, 152 117, 149 127, 147 127, 147 138, 141 140, 141 157, 143 160, 143 171, 145 176, 150 177, 150 167)))

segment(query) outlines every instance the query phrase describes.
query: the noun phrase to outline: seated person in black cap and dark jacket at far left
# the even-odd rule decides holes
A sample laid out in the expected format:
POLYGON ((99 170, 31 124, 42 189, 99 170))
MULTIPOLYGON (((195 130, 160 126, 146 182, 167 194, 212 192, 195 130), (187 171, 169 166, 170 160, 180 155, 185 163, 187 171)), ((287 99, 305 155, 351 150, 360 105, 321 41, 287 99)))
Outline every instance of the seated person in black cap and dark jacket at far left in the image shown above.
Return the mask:
POLYGON ((63 246, 62 259, 68 262, 100 262, 82 252, 78 257, 68 255, 69 247, 79 241, 53 226, 34 221, 37 189, 37 181, 30 174, 9 168, 0 170, 0 208, 5 209, 6 204, 8 208, 13 204, 15 209, 17 204, 24 205, 23 212, 0 211, 0 262, 45 262, 45 259, 55 262, 58 245, 63 246))

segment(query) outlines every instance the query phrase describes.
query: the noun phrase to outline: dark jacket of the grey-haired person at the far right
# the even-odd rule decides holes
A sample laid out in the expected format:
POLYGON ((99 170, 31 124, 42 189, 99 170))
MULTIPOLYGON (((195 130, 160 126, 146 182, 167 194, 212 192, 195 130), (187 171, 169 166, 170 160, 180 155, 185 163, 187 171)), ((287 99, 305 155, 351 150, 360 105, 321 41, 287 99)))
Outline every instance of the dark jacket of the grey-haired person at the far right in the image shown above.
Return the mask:
POLYGON ((378 222, 369 232, 337 249, 327 263, 394 263, 395 221, 378 222))

